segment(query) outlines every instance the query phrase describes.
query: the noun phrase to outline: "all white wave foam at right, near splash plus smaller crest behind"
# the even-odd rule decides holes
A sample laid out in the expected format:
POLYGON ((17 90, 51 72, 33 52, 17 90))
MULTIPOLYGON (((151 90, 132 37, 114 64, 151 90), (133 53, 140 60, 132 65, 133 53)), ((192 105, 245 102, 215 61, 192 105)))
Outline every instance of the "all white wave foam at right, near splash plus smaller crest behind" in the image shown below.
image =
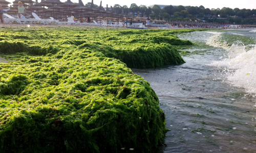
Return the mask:
POLYGON ((212 36, 207 44, 227 50, 227 58, 214 61, 210 66, 228 69, 227 80, 232 86, 242 87, 248 93, 256 93, 256 44, 244 45, 240 41, 227 46, 219 42, 221 33, 212 36))

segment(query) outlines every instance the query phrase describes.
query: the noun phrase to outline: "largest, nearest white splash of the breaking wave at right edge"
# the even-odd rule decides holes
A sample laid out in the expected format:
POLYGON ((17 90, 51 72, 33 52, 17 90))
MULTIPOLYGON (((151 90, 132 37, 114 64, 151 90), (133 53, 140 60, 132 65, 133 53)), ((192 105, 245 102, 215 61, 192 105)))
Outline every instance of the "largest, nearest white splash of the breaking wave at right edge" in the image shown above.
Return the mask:
POLYGON ((249 93, 256 93, 256 47, 246 52, 246 46, 234 46, 229 50, 229 58, 209 65, 225 67, 229 70, 227 80, 231 85, 242 87, 249 93), (233 72, 230 73, 230 70, 233 72))

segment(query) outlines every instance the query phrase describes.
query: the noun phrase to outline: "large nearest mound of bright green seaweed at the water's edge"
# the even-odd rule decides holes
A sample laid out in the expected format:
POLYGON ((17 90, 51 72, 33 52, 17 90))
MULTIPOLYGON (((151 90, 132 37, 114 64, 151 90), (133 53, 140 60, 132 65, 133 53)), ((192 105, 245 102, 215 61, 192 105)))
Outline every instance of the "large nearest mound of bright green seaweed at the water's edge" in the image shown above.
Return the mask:
POLYGON ((157 95, 148 82, 123 63, 75 56, 54 64, 36 63, 42 66, 18 65, 17 69, 25 66, 18 71, 22 74, 11 78, 8 76, 12 72, 3 71, 17 65, 2 67, 2 151, 147 151, 163 143, 165 116, 157 95), (66 63, 69 66, 58 72, 66 63), (22 86, 23 90, 10 84, 22 86), (6 95, 6 86, 15 91, 6 95))

